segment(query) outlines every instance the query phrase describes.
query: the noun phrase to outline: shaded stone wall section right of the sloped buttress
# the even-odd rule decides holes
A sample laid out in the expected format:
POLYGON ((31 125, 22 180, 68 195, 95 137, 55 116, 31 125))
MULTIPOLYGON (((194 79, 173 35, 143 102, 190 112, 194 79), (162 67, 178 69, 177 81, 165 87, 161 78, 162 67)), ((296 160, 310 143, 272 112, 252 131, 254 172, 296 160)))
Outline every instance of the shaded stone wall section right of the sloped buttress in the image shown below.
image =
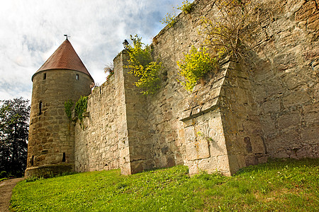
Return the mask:
POLYGON ((318 1, 269 2, 259 9, 250 78, 267 153, 318 158, 318 1))

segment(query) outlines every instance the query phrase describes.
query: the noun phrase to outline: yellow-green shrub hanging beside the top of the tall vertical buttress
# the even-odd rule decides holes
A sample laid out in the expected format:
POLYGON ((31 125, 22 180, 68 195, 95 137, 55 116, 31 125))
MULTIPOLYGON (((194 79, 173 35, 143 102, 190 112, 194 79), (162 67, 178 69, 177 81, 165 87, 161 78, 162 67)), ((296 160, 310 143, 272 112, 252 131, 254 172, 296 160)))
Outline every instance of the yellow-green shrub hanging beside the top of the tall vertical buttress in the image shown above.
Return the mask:
POLYGON ((142 38, 130 35, 133 46, 128 46, 128 68, 131 74, 138 76, 135 86, 142 88, 142 94, 153 94, 159 89, 159 70, 161 63, 152 59, 152 49, 141 42, 142 38))

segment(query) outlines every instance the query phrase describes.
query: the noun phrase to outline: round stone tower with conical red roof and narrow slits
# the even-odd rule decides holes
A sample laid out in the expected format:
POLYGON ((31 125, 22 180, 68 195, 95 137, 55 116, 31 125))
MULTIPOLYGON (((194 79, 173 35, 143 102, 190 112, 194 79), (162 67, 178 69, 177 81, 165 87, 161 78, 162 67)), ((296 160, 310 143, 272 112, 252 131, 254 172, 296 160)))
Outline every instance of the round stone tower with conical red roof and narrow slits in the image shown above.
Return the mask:
POLYGON ((32 76, 26 177, 74 170, 74 124, 65 101, 91 93, 94 82, 69 40, 32 76))

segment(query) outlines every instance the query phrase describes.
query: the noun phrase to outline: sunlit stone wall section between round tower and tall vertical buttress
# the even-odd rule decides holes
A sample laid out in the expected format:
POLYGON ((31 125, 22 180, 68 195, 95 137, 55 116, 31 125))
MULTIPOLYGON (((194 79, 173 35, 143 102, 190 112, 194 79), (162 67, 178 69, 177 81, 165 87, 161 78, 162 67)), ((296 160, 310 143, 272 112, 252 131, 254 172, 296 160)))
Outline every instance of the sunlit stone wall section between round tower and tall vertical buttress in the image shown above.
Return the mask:
POLYGON ((120 91, 111 78, 93 90, 88 99, 83 123, 75 126, 74 158, 77 172, 119 168, 118 127, 120 91))

